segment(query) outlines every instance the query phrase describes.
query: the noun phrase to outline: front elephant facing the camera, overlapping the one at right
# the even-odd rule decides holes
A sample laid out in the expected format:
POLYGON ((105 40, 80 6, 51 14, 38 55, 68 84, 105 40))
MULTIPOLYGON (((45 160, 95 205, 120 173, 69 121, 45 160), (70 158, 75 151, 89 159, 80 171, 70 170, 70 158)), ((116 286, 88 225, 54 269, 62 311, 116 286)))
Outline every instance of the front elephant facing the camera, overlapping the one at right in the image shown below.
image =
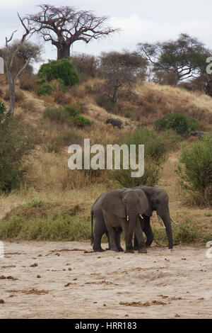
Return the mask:
POLYGON ((146 253, 139 215, 148 209, 148 200, 141 189, 116 189, 103 193, 93 204, 91 213, 91 235, 93 251, 104 251, 101 247, 103 233, 109 235, 110 249, 122 251, 120 235, 124 231, 125 252, 133 253, 132 237, 135 232, 140 253, 146 253), (93 237, 93 215, 95 228, 93 237))

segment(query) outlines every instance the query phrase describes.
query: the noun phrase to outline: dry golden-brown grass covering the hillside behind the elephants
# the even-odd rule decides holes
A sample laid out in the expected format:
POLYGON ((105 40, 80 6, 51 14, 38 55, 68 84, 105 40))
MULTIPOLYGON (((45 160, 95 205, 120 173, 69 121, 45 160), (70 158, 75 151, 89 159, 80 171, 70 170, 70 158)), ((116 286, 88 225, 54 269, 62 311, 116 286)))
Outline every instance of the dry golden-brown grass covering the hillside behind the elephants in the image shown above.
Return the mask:
MULTIPOLYGON (((5 82, 2 82, 1 99, 8 106, 5 82)), ((66 93, 57 90, 52 96, 42 97, 21 90, 18 86, 16 115, 28 128, 37 130, 37 145, 29 157, 30 168, 26 184, 20 188, 20 191, 14 191, 8 196, 1 195, 0 218, 4 218, 10 211, 10 216, 11 214, 17 216, 19 205, 28 205, 34 201, 35 206, 36 203, 42 203, 42 208, 39 209, 44 211, 44 215, 48 215, 47 212, 51 212, 55 205, 58 207, 59 203, 62 203, 62 208, 59 208, 60 213, 64 205, 66 208, 69 205, 71 207, 79 205, 81 210, 76 220, 86 222, 90 231, 90 205, 100 193, 116 184, 107 179, 106 171, 99 172, 98 176, 92 171, 70 171, 67 166, 69 145, 83 144, 83 139, 87 137, 90 137, 91 145, 121 142, 139 123, 151 126, 161 115, 171 111, 195 116, 201 121, 205 130, 212 129, 212 99, 204 94, 143 82, 135 86, 134 94, 122 98, 113 114, 97 105, 98 84, 100 80, 90 79, 66 93), (70 128, 66 123, 52 123, 43 118, 43 112, 49 105, 64 106, 76 102, 83 105, 82 114, 93 122, 89 128, 70 128), (124 117, 126 114, 127 118, 124 117), (105 125, 108 116, 121 118, 124 121, 123 129, 105 125), (14 210, 16 207, 17 210, 14 210)), ((202 230, 207 232, 206 237, 200 237, 205 241, 212 237, 212 210, 182 204, 183 193, 177 184, 175 174, 179 153, 180 150, 171 152, 165 160, 158 185, 165 188, 170 196, 170 211, 173 218, 182 223, 197 222, 202 230)), ((47 218, 52 218, 52 215, 48 215, 47 218)), ((153 225, 158 226, 156 215, 153 216, 153 225)), ((158 230, 160 234, 160 229, 158 230)))

